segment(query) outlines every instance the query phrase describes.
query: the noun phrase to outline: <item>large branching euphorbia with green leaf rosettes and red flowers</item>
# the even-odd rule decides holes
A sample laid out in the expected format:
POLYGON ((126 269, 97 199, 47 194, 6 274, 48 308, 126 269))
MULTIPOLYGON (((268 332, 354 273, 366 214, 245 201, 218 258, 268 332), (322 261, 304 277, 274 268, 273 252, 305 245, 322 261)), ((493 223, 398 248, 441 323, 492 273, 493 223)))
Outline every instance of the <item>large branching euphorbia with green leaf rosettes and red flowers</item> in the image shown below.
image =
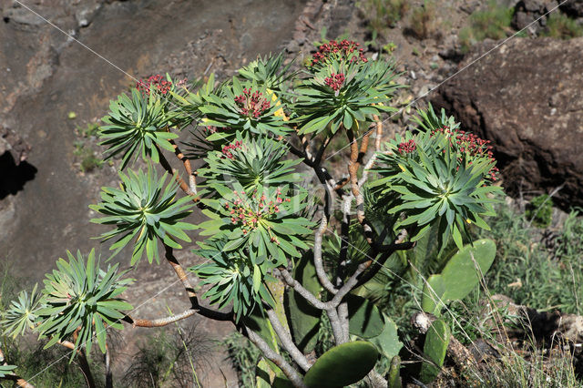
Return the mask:
POLYGON ((74 337, 76 351, 97 338, 107 352, 103 333, 120 322, 155 327, 200 314, 232 322, 261 350, 269 362, 258 368, 271 370, 266 383, 383 381, 373 367, 379 354, 399 352, 396 326, 355 290, 378 282, 386 260, 414 249, 429 230, 439 247, 453 238, 461 248, 469 225, 487 228, 499 190, 488 146, 432 107, 419 113, 415 133, 384 138, 382 115, 395 110, 401 87, 394 77, 393 62, 368 59, 343 40, 321 46, 297 72, 268 56, 196 91, 170 77, 140 81, 103 119, 107 155, 122 156, 121 185, 102 189, 93 221, 113 227, 101 237, 115 239, 116 252, 130 247, 132 265, 158 262, 163 249, 191 306, 156 320, 131 317, 118 299, 127 281, 116 268, 98 270, 93 253, 87 264, 69 254, 40 298, 25 293, 5 314, 5 331, 30 328, 49 344, 74 337), (184 143, 189 157, 176 143, 186 127, 194 136, 184 143), (350 157, 332 165, 334 137, 350 157), (171 154, 185 173, 170 166, 171 154), (137 158, 147 170, 128 167, 137 158), (151 163, 168 174, 159 177, 151 163), (185 220, 195 209, 206 218, 198 225, 185 220), (205 240, 191 255, 203 262, 184 269, 174 250, 193 229, 205 240), (201 299, 218 311, 201 304, 193 275, 206 286, 201 299), (335 346, 318 357, 314 336, 324 321, 335 346))

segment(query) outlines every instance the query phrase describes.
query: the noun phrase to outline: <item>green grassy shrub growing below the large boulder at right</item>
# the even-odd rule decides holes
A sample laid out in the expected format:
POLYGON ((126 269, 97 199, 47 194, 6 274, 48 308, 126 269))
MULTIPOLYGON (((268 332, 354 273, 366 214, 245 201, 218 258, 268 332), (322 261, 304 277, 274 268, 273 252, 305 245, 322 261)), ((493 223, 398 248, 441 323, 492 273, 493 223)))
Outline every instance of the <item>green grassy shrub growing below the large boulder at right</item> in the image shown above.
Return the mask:
POLYGON ((537 310, 580 313, 583 219, 578 211, 570 213, 551 248, 537 242, 540 232, 528 225, 525 214, 507 206, 499 207, 497 214, 491 232, 480 233, 496 240, 498 247, 496 260, 486 275, 488 290, 537 310))

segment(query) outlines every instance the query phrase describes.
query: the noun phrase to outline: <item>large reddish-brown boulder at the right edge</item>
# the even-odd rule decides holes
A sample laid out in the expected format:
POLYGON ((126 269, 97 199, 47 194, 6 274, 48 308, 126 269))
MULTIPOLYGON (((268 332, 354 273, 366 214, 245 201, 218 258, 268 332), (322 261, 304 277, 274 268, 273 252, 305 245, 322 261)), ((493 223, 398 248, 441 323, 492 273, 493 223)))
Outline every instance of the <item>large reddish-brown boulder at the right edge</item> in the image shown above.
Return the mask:
MULTIPOLYGON (((460 68, 493 45, 476 47, 460 68)), ((583 205, 582 50, 583 38, 513 39, 434 98, 465 128, 496 145, 509 192, 560 188, 559 205, 583 205)))

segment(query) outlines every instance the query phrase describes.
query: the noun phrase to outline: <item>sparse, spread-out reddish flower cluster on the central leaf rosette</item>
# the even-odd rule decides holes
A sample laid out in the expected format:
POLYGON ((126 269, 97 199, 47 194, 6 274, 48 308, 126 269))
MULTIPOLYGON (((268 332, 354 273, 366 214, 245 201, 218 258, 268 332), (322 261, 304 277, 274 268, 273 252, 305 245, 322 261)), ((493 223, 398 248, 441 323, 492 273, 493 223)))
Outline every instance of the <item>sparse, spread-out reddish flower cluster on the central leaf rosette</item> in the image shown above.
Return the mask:
MULTIPOLYGON (((280 212, 279 204, 291 201, 289 198, 281 197, 279 189, 276 192, 276 199, 269 201, 265 195, 257 198, 257 191, 251 195, 251 199, 247 197, 245 191, 233 191, 233 194, 235 194, 235 200, 227 202, 224 207, 230 209, 231 223, 240 225, 243 234, 256 230, 260 220, 272 219, 276 213, 280 212)), ((271 236, 271 242, 279 244, 274 236, 271 236)))

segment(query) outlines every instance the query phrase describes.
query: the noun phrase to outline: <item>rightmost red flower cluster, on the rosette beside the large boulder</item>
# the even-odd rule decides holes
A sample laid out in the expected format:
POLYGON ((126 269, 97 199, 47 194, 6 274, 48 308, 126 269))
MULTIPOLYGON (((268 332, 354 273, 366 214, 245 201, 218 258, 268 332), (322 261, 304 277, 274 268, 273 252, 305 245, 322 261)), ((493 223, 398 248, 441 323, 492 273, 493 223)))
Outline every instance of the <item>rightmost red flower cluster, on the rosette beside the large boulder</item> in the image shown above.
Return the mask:
MULTIPOLYGON (((455 148, 460 155, 457 159, 462 162, 465 158, 469 158, 468 164, 472 164, 471 159, 473 158, 488 158, 491 161, 496 161, 494 158, 494 153, 492 152, 492 146, 490 146, 490 140, 485 140, 483 138, 478 138, 472 133, 466 133, 463 130, 454 129, 451 130, 449 127, 438 128, 431 131, 431 136, 435 136, 435 133, 443 133, 449 138, 449 146, 453 146, 453 141, 455 140, 455 148), (464 157, 463 157, 464 156, 464 157)), ((444 150, 445 152, 445 150, 444 150)), ((488 171, 488 178, 492 180, 498 179, 500 170, 496 166, 492 166, 488 171)))

